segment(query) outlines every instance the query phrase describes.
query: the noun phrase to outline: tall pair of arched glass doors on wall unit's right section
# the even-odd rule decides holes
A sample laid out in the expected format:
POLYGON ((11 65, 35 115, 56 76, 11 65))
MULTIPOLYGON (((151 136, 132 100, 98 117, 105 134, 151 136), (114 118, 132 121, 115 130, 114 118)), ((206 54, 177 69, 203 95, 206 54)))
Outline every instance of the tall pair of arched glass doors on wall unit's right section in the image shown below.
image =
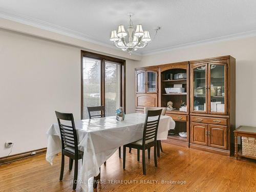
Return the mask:
POLYGON ((227 63, 191 66, 191 112, 227 114, 227 63))

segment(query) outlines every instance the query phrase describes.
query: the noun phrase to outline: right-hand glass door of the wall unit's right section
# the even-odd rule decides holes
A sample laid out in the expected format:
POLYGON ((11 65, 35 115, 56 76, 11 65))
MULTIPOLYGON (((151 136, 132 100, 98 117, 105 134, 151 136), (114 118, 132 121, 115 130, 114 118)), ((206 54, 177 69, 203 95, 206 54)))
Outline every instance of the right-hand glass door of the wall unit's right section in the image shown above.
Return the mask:
POLYGON ((209 111, 226 113, 226 65, 209 64, 209 111))

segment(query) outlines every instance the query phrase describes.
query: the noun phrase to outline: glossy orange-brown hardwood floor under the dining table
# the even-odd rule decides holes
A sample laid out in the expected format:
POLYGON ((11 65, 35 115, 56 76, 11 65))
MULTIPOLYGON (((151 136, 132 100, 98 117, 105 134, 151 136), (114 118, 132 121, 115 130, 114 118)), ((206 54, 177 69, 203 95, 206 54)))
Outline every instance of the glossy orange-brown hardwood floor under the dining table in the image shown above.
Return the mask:
MULTIPOLYGON (((122 169, 122 159, 118 158, 117 151, 105 166, 101 166, 101 181, 106 184, 98 184, 98 189, 94 191, 256 191, 256 161, 237 161, 234 157, 167 143, 162 145, 164 153, 158 159, 157 168, 154 158, 146 158, 146 176, 142 173, 142 162, 137 162, 137 151, 132 150, 132 154, 127 151, 125 170, 122 169), (133 180, 134 184, 114 183, 118 180, 133 180), (161 184, 162 180, 167 183, 161 184), (186 183, 170 184, 169 180, 186 183)), ((60 157, 54 159, 53 166, 45 160, 45 155, 0 165, 0 191, 73 191, 71 180, 74 167, 69 172, 68 159, 63 181, 58 180, 60 157)), ((153 150, 151 157, 154 157, 153 150)), ((93 190, 92 185, 90 190, 93 190)), ((76 191, 81 191, 80 184, 76 191)))

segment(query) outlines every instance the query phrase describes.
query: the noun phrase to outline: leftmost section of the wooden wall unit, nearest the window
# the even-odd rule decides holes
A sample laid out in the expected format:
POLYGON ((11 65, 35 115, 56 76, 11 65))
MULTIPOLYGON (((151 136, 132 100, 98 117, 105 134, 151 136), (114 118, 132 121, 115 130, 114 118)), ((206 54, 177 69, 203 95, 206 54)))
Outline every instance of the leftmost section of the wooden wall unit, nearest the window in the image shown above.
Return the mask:
POLYGON ((158 68, 136 69, 136 112, 143 113, 144 106, 158 106, 158 68))

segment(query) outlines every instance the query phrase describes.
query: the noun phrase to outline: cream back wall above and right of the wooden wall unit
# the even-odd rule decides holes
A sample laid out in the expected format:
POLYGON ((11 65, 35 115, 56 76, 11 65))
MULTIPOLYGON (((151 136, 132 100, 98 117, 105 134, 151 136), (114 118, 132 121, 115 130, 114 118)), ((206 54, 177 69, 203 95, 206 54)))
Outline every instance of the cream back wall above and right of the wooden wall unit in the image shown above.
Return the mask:
POLYGON ((135 67, 160 65, 209 57, 236 58, 236 126, 256 126, 256 37, 221 41, 146 55, 135 67))

